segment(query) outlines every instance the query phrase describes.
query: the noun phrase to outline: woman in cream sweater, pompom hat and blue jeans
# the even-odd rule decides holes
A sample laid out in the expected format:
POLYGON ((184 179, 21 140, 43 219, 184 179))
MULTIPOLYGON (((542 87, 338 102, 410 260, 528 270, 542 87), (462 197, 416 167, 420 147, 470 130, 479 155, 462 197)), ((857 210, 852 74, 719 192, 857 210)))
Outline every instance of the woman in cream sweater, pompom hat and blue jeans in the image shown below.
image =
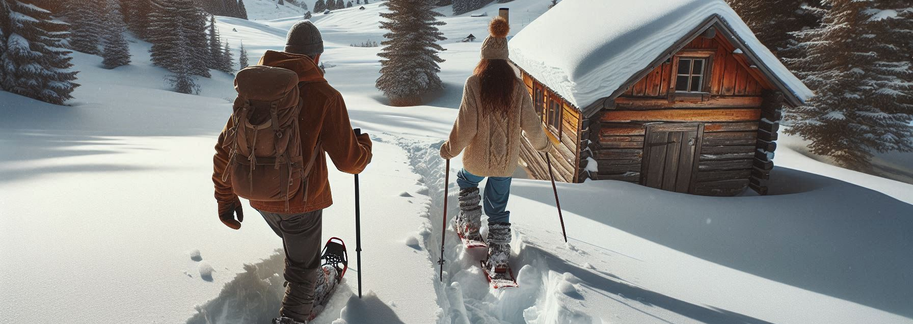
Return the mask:
POLYGON ((463 102, 441 146, 441 157, 451 159, 466 150, 463 169, 456 173, 460 214, 456 232, 470 240, 481 240, 481 200, 478 183, 485 184, 485 214, 488 215, 489 273, 503 274, 510 256, 510 212, 506 210, 510 175, 517 168, 522 135, 540 152, 549 148, 548 138, 530 94, 507 62, 509 25, 496 17, 488 25, 491 36, 482 43, 482 59, 466 81, 463 102))

